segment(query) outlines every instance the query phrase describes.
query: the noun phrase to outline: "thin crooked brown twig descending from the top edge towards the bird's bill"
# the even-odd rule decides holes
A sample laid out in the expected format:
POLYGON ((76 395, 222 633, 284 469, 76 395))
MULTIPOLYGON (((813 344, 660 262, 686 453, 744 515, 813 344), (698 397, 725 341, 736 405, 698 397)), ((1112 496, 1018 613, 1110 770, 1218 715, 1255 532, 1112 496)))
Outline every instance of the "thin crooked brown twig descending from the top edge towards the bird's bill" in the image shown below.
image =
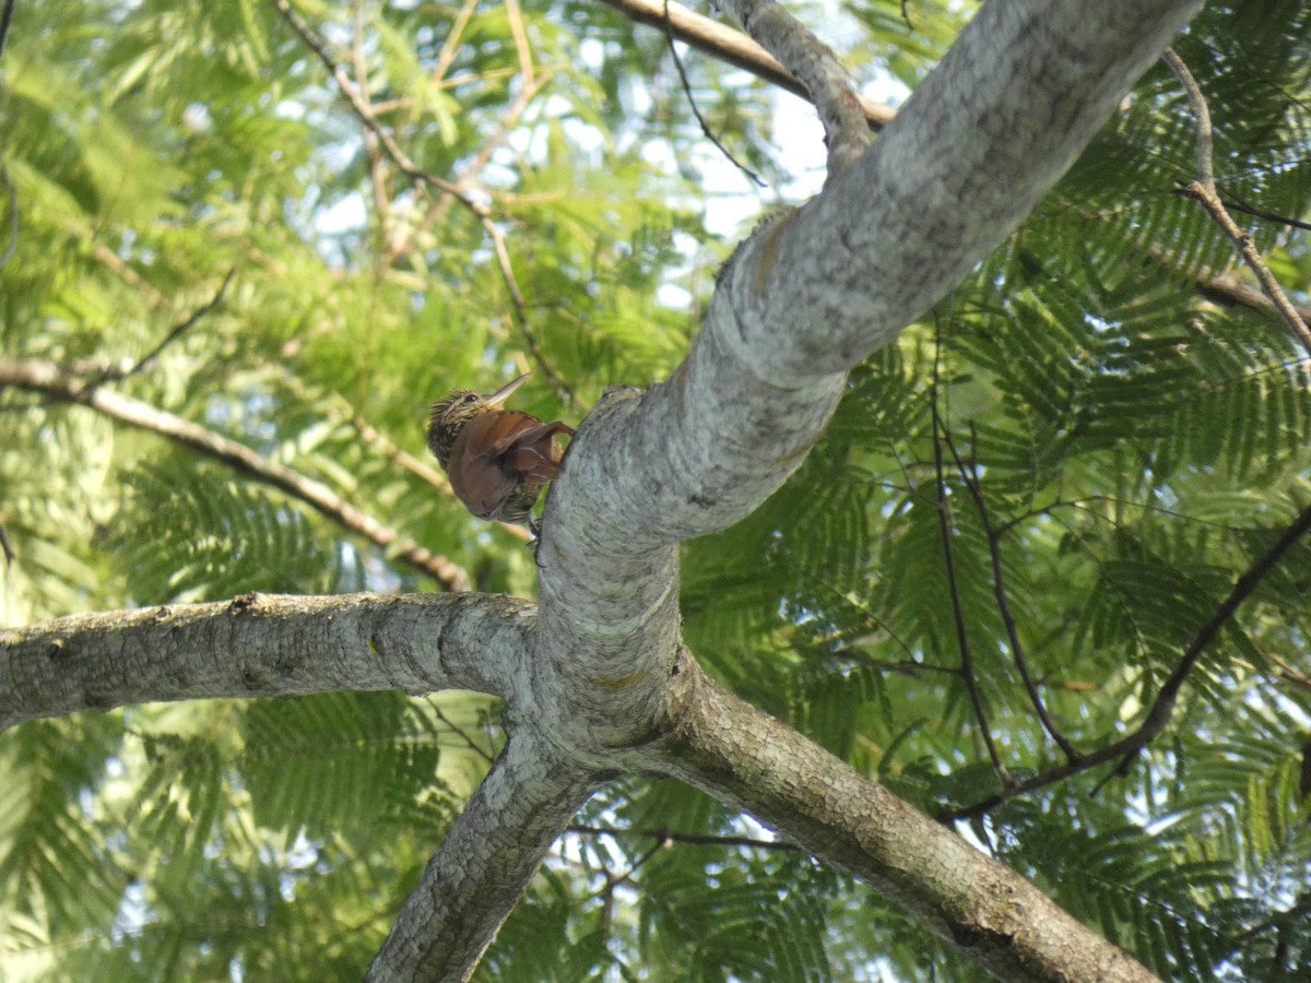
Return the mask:
MULTIPOLYGON (((413 160, 410 160, 409 155, 406 155, 405 151, 401 149, 400 144, 396 143, 391 131, 383 126, 382 122, 379 122, 378 114, 368 102, 367 92, 357 88, 350 81, 350 76, 347 76, 346 71, 337 64, 332 52, 328 50, 328 46, 324 45, 323 39, 320 39, 313 30, 311 30, 304 18, 302 18, 302 16, 292 9, 287 0, 273 0, 273 5, 278 9, 278 13, 282 14, 282 18, 291 26, 302 42, 304 42, 305 47, 313 51, 323 63, 324 68, 328 69, 328 73, 337 83, 337 88, 341 89, 341 94, 345 96, 346 101, 350 104, 355 118, 359 119, 368 132, 378 138, 378 143, 382 145, 391 161, 401 170, 401 173, 420 187, 434 187, 438 191, 450 195, 454 201, 459 202, 465 211, 479 220, 482 229, 492 240, 492 246, 497 257, 497 265, 501 270, 501 279, 505 282, 506 291, 510 294, 510 316, 520 334, 523 334, 528 353, 538 363, 538 368, 541 371, 543 377, 545 377, 547 383, 556 392, 560 401, 570 406, 579 405, 579 400, 574 391, 551 367, 551 363, 547 362, 541 353, 541 346, 538 343, 536 334, 528 321, 528 304, 523 299, 523 291, 519 290, 519 282, 514 275, 514 266, 510 262, 510 252, 505 242, 505 232, 496 224, 490 210, 485 204, 480 204, 473 201, 467 194, 467 185, 464 182, 456 183, 447 181, 446 178, 438 177, 431 172, 423 170, 413 160)), ((524 80, 524 85, 528 85, 530 83, 531 80, 524 80)))

